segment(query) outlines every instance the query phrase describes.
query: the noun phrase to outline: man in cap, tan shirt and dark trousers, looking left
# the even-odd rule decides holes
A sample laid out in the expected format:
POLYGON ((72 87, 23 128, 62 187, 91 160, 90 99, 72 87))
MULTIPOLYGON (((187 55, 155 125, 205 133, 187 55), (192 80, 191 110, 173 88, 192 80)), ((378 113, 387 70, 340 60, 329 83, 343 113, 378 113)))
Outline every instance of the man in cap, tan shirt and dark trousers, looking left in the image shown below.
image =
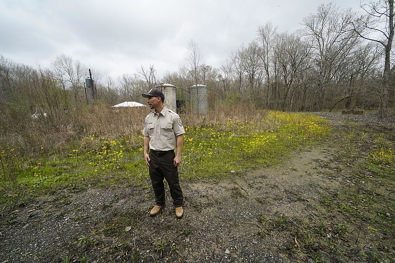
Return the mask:
POLYGON ((168 110, 164 105, 164 94, 158 88, 142 93, 152 113, 144 123, 144 159, 149 166, 152 187, 155 192, 155 206, 150 216, 156 216, 165 207, 163 179, 169 185, 170 195, 175 206, 176 218, 183 216, 183 193, 178 178, 178 166, 181 163, 184 127, 180 116, 168 110), (174 153, 174 149, 177 152, 174 153), (150 152, 148 153, 148 150, 150 152))

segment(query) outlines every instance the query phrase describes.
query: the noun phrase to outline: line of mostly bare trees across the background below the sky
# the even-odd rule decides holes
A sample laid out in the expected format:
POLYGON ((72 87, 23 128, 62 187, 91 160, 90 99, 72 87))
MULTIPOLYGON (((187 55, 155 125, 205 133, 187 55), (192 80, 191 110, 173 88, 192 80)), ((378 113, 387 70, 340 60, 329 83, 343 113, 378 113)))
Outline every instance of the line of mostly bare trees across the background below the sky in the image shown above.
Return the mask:
MULTIPOLYGON (((393 9, 394 0, 370 2, 357 11, 333 2, 321 4, 292 33, 278 32, 268 21, 220 68, 205 63, 193 40, 179 70, 161 79, 153 65, 116 79, 92 67, 96 103, 142 102, 141 92, 160 83, 175 85, 178 99, 186 100, 188 87, 204 84, 209 109, 217 103, 244 102, 281 111, 378 109, 379 116, 386 117, 395 111, 393 9)), ((78 112, 87 104, 87 72, 66 54, 48 68, 16 64, 0 55, 0 111, 6 116, 2 122, 12 122, 21 113, 67 118, 65 113, 78 112)))

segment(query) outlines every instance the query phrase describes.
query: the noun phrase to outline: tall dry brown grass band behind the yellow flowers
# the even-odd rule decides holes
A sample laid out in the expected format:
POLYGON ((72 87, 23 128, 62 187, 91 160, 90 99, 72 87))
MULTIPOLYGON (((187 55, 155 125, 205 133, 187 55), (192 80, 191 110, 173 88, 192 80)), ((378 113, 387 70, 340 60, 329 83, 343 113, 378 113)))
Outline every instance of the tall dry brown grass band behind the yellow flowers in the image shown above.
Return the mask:
MULTIPOLYGON (((145 116, 151 111, 149 107, 115 109, 100 104, 37 119, 32 119, 29 113, 8 114, 0 121, 0 148, 15 149, 23 158, 41 153, 62 154, 71 146, 83 145, 92 135, 108 139, 139 135, 145 116)), ((232 107, 218 104, 205 115, 186 111, 180 116, 184 126, 201 127, 225 123, 227 119, 261 120, 265 114, 250 104, 239 103, 232 107)), ((140 144, 131 142, 131 146, 140 144)))

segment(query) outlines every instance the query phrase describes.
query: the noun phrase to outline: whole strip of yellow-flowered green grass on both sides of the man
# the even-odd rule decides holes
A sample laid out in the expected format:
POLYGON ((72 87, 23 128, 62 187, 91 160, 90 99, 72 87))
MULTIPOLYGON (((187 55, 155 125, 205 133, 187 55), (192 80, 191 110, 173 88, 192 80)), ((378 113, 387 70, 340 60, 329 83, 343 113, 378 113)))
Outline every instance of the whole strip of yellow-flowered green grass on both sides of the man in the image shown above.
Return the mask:
MULTIPOLYGON (((271 165, 292 150, 327 138, 331 132, 328 122, 320 117, 279 112, 269 112, 259 121, 228 118, 185 130, 179 168, 182 180, 219 180, 257 165, 271 165)), ((2 204, 14 205, 64 188, 149 185, 142 135, 104 138, 95 134, 70 142, 64 153, 41 148, 26 157, 21 152, 0 149, 2 204)))

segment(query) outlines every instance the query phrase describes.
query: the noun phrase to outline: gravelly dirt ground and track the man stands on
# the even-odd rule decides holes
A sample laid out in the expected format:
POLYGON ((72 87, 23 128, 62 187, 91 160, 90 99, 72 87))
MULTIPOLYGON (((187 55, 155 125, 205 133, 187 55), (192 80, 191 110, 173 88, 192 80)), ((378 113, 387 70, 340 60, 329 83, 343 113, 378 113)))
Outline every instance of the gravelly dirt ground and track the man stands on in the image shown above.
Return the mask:
MULTIPOLYGON (((297 236, 324 217, 328 225, 321 242, 334 238, 330 215, 319 207, 322 196, 346 184, 344 174, 327 165, 341 150, 340 130, 352 129, 348 125, 356 121, 382 132, 393 130, 394 123, 367 115, 322 115, 335 129, 333 138, 298 150, 279 165, 220 182, 185 182, 181 176, 181 220, 175 218, 168 191, 165 209, 157 217, 148 215, 154 202, 149 187, 65 189, 16 207, 3 213, 0 263, 372 262, 361 251, 378 249, 374 237, 361 235, 363 249, 339 256, 314 242, 302 249, 304 241, 297 236)), ((348 231, 338 240, 343 251, 354 246, 353 228, 348 231)), ((394 253, 394 243, 388 254, 394 253)))

